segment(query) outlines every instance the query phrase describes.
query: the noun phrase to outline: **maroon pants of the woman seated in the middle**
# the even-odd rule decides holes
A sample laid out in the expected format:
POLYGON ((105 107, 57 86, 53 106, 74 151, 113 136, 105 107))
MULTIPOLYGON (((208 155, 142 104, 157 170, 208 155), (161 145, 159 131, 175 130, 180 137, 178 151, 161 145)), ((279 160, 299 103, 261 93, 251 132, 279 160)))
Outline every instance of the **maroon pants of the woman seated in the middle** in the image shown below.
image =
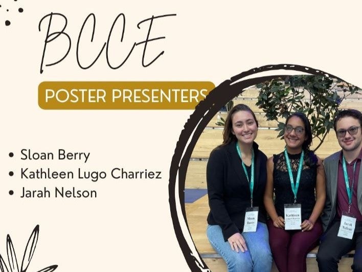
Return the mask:
POLYGON ((273 259, 280 272, 306 272, 308 252, 318 245, 323 233, 322 223, 318 220, 308 232, 285 231, 273 225, 272 219, 267 221, 269 244, 273 259))

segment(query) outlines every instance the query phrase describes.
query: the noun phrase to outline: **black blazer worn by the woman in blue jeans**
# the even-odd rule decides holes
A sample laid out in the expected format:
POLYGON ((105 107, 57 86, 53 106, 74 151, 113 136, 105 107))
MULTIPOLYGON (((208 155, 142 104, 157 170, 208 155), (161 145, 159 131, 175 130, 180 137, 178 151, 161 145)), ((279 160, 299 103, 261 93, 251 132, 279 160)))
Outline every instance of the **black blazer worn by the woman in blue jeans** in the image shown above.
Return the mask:
MULTIPOLYGON (((266 222, 264 190, 266 184, 266 156, 253 143, 254 192, 253 206, 259 207, 258 221, 266 222)), ((211 154, 206 170, 210 213, 208 224, 220 225, 224 240, 244 227, 245 210, 251 206, 250 187, 236 151, 235 141, 217 147, 211 154)))

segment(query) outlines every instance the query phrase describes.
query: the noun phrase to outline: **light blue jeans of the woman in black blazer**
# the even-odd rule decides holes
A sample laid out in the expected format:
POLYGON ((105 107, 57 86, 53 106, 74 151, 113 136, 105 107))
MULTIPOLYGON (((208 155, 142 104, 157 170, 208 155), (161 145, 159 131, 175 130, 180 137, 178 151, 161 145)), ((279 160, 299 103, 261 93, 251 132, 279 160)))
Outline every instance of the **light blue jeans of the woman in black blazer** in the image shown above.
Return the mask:
POLYGON ((272 269, 272 252, 269 247, 269 234, 266 224, 258 222, 255 233, 241 233, 247 251, 233 251, 228 241, 224 242, 221 227, 208 225, 206 234, 210 244, 224 259, 229 272, 268 272, 272 269))

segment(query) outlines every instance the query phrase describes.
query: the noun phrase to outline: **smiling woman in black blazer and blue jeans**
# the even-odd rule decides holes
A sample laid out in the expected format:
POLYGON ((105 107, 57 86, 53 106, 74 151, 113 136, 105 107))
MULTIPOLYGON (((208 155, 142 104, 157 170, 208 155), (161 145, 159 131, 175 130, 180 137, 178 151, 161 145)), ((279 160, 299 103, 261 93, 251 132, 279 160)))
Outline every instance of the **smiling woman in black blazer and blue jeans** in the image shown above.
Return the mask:
POLYGON ((266 156, 254 142, 258 121, 244 104, 225 120, 223 143, 207 165, 210 213, 207 236, 229 272, 267 272, 272 267, 263 195, 266 156))

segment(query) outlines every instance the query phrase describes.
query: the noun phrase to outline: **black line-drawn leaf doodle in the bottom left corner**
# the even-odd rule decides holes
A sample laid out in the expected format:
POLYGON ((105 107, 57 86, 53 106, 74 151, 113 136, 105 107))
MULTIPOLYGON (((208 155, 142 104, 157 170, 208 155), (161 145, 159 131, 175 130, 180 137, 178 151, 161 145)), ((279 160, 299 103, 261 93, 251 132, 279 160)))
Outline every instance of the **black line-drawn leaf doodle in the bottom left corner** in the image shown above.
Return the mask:
MULTIPOLYGON (((15 0, 16 1, 16 0, 15 0)), ((0 270, 1 272, 27 272, 30 261, 33 258, 36 243, 38 242, 39 237, 39 225, 36 225, 30 238, 28 240, 27 246, 25 247, 24 257, 22 257, 22 262, 19 270, 19 265, 16 259, 14 245, 11 241, 10 235, 6 237, 6 253, 8 255, 9 268, 8 269, 3 256, 0 254, 0 270)), ((37 272, 52 272, 57 269, 58 265, 50 265, 46 268, 40 269, 37 272)))

